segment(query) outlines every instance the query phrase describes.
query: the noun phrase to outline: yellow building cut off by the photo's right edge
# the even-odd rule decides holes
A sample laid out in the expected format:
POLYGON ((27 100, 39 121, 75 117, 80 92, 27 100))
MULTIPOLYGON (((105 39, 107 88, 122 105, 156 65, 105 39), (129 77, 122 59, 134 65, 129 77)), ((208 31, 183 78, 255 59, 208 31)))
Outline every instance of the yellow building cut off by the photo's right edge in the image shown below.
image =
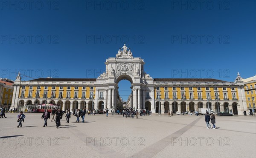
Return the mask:
POLYGON ((246 104, 248 112, 252 112, 256 105, 256 75, 250 78, 242 79, 244 81, 244 92, 246 98, 246 104))

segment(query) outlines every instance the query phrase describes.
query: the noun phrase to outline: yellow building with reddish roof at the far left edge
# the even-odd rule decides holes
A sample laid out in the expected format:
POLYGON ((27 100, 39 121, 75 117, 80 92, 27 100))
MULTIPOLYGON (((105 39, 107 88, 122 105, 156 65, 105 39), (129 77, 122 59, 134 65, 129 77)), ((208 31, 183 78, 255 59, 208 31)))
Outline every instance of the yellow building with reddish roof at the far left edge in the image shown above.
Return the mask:
POLYGON ((13 81, 7 78, 0 78, 0 107, 10 108, 13 97, 13 81))

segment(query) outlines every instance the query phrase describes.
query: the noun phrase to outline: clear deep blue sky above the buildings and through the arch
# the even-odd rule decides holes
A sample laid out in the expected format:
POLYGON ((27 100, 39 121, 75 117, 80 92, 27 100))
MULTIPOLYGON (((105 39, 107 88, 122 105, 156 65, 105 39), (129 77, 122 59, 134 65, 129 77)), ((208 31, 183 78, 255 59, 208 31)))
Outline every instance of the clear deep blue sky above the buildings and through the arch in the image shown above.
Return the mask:
POLYGON ((1 78, 96 78, 123 43, 153 78, 256 74, 254 0, 0 2, 1 78))

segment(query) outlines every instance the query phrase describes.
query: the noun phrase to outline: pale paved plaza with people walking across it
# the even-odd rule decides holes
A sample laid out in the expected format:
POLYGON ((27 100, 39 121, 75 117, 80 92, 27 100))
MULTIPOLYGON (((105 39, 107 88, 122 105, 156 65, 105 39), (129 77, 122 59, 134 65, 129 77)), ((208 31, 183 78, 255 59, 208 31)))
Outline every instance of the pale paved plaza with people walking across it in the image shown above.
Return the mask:
MULTIPOLYGON (((41 113, 18 113, 0 119, 0 157, 256 157, 256 117, 216 116, 217 129, 206 129, 204 116, 139 116, 104 114, 71 116, 61 126, 41 113)), ((65 115, 65 114, 64 114, 65 115)))

